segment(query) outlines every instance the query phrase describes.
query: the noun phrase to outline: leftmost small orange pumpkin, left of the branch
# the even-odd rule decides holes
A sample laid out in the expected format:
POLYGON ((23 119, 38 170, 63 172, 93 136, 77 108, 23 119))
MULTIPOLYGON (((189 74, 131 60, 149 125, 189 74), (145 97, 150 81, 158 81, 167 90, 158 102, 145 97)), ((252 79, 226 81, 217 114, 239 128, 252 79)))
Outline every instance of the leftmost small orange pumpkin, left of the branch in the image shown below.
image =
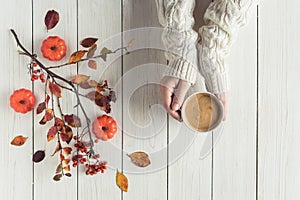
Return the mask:
POLYGON ((15 90, 10 96, 10 107, 12 107, 16 112, 27 113, 34 108, 35 96, 27 89, 15 90))

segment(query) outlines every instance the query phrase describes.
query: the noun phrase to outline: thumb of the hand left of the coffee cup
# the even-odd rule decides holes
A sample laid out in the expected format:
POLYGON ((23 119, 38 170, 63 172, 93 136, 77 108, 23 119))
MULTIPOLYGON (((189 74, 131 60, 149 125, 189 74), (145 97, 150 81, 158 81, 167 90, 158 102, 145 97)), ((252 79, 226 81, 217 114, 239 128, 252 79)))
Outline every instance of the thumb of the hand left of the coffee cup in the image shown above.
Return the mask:
POLYGON ((176 111, 180 109, 184 101, 184 97, 187 91, 189 90, 190 86, 191 84, 189 82, 180 80, 180 82, 174 90, 174 97, 171 106, 172 110, 176 111))

